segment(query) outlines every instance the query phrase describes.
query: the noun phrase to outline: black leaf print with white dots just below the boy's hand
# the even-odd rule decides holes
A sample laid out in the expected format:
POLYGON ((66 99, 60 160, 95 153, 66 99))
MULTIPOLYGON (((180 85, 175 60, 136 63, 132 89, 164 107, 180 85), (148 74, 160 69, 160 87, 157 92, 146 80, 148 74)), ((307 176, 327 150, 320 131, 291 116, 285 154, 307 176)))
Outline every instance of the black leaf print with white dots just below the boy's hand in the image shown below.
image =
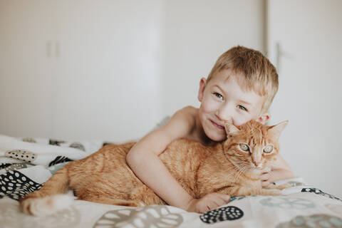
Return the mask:
POLYGON ((227 220, 235 220, 244 216, 244 212, 239 207, 228 206, 213 209, 205 214, 202 214, 199 218, 205 223, 223 222, 227 220))

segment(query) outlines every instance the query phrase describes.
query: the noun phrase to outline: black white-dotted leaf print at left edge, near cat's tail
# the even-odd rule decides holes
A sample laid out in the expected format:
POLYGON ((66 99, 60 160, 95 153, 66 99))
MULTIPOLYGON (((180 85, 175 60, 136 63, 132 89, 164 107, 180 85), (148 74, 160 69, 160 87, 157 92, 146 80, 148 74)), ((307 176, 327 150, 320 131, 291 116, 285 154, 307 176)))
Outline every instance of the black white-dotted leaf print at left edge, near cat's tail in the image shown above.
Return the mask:
POLYGON ((30 192, 34 192, 41 188, 38 184, 26 177, 19 171, 9 170, 4 175, 0 175, 0 198, 10 197, 19 200, 30 192))

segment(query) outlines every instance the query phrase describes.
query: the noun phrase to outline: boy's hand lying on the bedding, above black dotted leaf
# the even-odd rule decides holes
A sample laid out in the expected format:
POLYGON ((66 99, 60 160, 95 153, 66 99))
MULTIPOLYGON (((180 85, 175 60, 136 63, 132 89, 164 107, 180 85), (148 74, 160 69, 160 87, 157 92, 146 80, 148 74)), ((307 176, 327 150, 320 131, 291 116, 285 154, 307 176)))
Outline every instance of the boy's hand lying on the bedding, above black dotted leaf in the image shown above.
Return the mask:
POLYGON ((187 204, 188 212, 205 213, 229 202, 229 195, 209 193, 200 199, 191 199, 187 204))

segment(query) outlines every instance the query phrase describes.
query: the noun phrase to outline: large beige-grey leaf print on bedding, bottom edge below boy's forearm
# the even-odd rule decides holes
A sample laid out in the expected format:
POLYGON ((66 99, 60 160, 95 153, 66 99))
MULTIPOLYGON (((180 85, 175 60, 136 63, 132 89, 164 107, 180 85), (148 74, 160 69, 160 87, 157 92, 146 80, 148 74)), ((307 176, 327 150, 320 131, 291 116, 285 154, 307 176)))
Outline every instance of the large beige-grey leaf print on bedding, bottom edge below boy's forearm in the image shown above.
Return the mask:
POLYGON ((123 223, 129 227, 178 227, 183 222, 180 214, 170 212, 166 206, 146 206, 138 208, 116 209, 106 212, 94 224, 99 227, 122 227, 123 223))

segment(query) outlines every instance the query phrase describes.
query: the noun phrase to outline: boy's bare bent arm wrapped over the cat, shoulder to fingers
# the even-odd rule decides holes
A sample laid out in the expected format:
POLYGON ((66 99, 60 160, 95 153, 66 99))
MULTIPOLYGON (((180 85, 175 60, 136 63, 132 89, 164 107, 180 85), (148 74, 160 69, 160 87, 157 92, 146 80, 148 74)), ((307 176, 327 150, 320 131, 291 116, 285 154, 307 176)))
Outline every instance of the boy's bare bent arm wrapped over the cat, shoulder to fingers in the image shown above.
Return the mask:
POLYGON ((128 152, 126 160, 135 175, 167 204, 188 211, 205 212, 208 208, 227 203, 229 197, 216 194, 206 196, 203 200, 193 199, 157 157, 172 140, 183 138, 191 132, 195 119, 189 113, 190 109, 178 110, 165 126, 142 138, 128 152))

